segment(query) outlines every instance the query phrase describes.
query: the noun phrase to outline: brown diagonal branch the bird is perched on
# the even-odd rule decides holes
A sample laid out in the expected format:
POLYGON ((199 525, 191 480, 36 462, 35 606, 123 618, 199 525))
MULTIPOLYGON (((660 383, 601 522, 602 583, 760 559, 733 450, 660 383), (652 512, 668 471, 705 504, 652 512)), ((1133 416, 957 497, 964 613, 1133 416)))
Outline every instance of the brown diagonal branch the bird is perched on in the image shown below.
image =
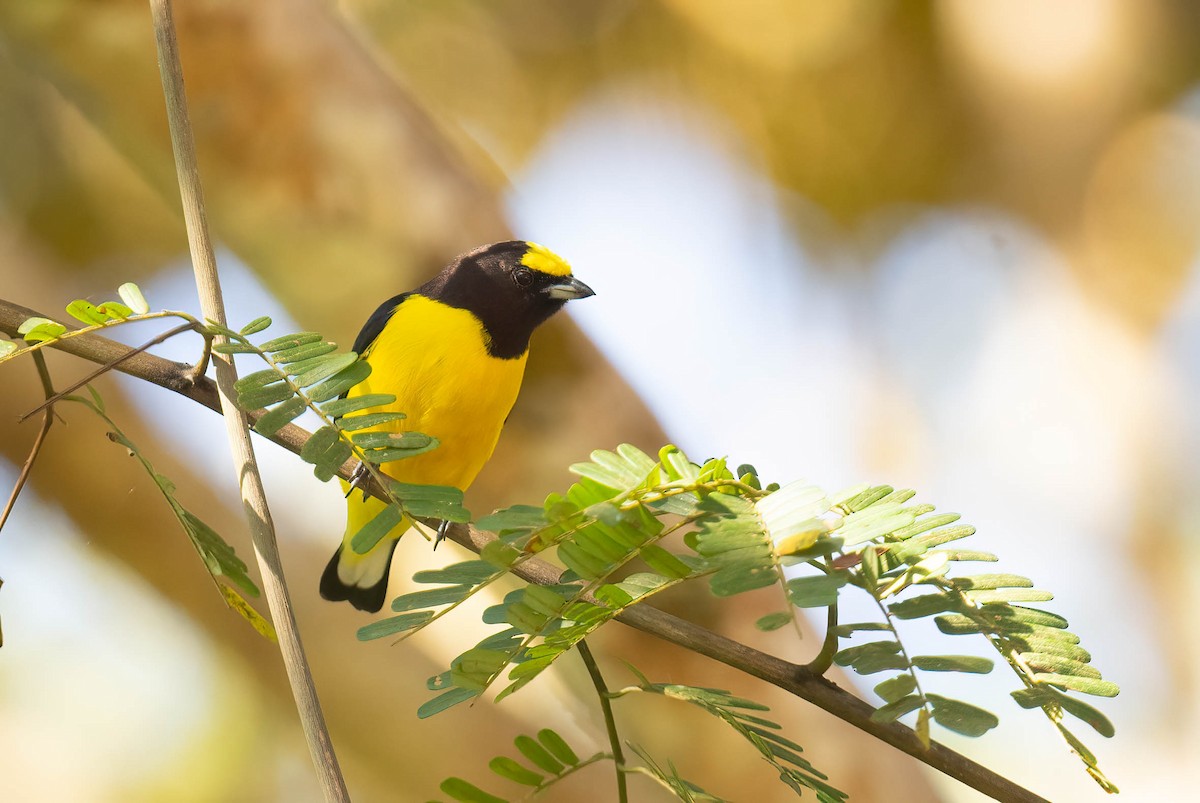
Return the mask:
MULTIPOLYGON (((0 299, 0 330, 8 335, 14 335, 17 326, 25 318, 35 316, 46 317, 40 312, 0 299)), ((94 362, 110 362, 114 356, 120 356, 122 350, 131 350, 126 346, 100 335, 82 335, 64 341, 61 344, 52 343, 52 346, 94 362)), ((186 362, 172 362, 152 354, 139 354, 137 358, 116 365, 114 370, 174 390, 210 409, 221 412, 220 405, 215 401, 215 385, 210 380, 200 378, 196 383, 188 383, 187 373, 191 367, 186 362)), ((253 420, 257 415, 252 414, 250 418, 253 420)), ((271 441, 288 451, 300 454, 308 435, 305 430, 289 424, 276 432, 271 441)), ((355 462, 347 461, 338 471, 338 477, 349 480, 354 477, 354 469, 355 462)), ((383 491, 374 487, 373 484, 366 485, 364 490, 379 499, 386 498, 383 491)), ((473 552, 479 552, 496 539, 493 534, 468 525, 452 525, 448 537, 473 552)), ((528 582, 545 586, 557 583, 562 569, 532 558, 515 567, 514 574, 528 582)), ((872 721, 871 713, 875 709, 870 703, 859 700, 853 694, 799 664, 792 664, 746 647, 647 604, 625 609, 617 616, 617 621, 772 683, 994 799, 1014 803, 1046 803, 1045 798, 1018 786, 1003 775, 942 744, 935 742, 926 750, 911 727, 900 723, 884 725, 872 721)))

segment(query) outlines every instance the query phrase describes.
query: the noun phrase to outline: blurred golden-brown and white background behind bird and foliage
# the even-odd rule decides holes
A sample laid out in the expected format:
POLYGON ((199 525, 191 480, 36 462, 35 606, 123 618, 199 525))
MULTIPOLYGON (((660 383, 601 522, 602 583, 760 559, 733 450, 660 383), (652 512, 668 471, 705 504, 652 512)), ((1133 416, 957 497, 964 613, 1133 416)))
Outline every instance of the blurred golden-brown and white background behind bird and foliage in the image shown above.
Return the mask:
MULTIPOLYGON (((271 331, 349 343, 379 300, 510 234, 595 288, 535 338, 468 495, 476 515, 539 502, 623 441, 830 491, 914 487, 976 525, 1000 569, 1054 591, 1121 684, 1098 702, 1116 738, 1075 730, 1126 798, 1184 797, 1200 750, 1200 7, 181 0, 175 14, 235 323, 268 313, 271 331)), ((197 310, 145 2, 0 0, 0 295, 56 314, 137 281, 155 307, 197 310)), ((89 370, 50 364, 60 384, 89 370)), ((16 419, 41 391, 28 360, 0 383, 11 487, 37 426, 16 419)), ((98 389, 252 563, 216 417, 120 377, 98 389)), ((318 799, 274 647, 226 610, 100 421, 60 412, 0 533, 0 798, 318 799)), ((356 642, 366 619, 316 593, 338 490, 270 444, 260 456, 355 799, 428 799, 450 774, 502 791, 487 759, 546 725, 604 749, 575 661, 499 706, 418 721, 469 617, 356 642)), ((406 539, 392 592, 455 550, 406 539)), ((793 660, 816 651, 749 628, 775 597, 662 605, 793 660)), ((610 685, 636 655, 653 679, 763 701, 854 799, 980 799, 803 701, 611 630, 610 685)), ((904 635, 986 654, 928 623, 904 635)), ((1104 797, 1004 671, 928 685, 1001 718, 982 739, 935 738, 1050 799, 1104 797)), ((703 714, 617 715, 715 793, 792 797, 703 714)), ((548 797, 606 801, 608 783, 594 768, 548 797)))

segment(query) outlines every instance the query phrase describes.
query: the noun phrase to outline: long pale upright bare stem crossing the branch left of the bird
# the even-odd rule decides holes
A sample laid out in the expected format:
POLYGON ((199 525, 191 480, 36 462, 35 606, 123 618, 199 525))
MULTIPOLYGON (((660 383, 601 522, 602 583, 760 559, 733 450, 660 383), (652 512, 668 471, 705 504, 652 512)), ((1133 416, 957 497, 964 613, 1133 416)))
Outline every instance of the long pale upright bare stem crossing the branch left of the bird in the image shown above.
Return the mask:
MULTIPOLYGON (((196 163, 192 126, 187 115, 184 68, 179 61, 179 46, 175 40, 170 0, 150 0, 150 12, 154 19, 155 43, 158 48, 158 71, 162 77, 163 96, 167 101, 170 144, 175 154, 175 169, 179 174, 179 190, 184 204, 184 222, 187 226, 187 242, 192 254, 192 270, 196 274, 196 288, 200 295, 200 310, 209 320, 224 325, 224 301, 221 296, 216 257, 204 215, 204 197, 200 190, 199 168, 196 163)), ((275 527, 271 523, 263 479, 258 472, 253 444, 250 441, 250 421, 234 402, 234 382, 238 379, 238 371, 233 359, 228 355, 215 355, 214 364, 221 409, 226 419, 226 433, 229 438, 234 468, 238 472, 242 504, 250 522, 254 555, 263 574, 266 604, 278 634, 280 652, 287 669, 288 681, 292 684, 292 694, 295 697, 305 738, 308 742, 308 751, 312 754, 317 778, 325 799, 348 802, 350 798, 346 791, 346 780, 342 778, 341 767, 338 767, 337 756, 334 753, 334 744, 329 737, 320 701, 317 699, 312 672, 304 654, 304 645, 300 642, 295 616, 292 612, 292 600, 283 579, 283 567, 275 540, 275 527)))

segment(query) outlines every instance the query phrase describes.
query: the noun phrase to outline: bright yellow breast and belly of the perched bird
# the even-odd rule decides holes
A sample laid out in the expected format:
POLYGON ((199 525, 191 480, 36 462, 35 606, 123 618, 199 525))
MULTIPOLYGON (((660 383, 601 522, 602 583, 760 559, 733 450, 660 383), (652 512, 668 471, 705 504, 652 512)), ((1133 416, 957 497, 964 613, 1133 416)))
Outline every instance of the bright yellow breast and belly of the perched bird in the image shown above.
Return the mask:
POLYGON ((392 394, 378 409, 407 418, 374 427, 424 432, 442 445, 384 463, 402 483, 451 485, 466 490, 492 456, 500 429, 521 389, 526 354, 500 360, 487 353, 482 324, 470 312, 410 295, 396 308, 367 349, 371 376, 350 391, 392 394))

